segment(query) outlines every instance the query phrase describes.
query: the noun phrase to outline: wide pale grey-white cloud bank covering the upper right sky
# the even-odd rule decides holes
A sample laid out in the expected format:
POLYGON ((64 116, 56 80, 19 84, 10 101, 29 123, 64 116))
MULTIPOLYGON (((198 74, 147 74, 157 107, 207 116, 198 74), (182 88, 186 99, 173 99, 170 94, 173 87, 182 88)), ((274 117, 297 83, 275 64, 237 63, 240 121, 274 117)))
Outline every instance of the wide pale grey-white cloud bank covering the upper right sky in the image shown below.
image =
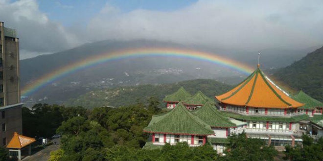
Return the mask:
POLYGON ((88 24, 91 40, 170 40, 261 50, 323 43, 322 1, 200 0, 171 12, 134 10, 109 3, 88 24))

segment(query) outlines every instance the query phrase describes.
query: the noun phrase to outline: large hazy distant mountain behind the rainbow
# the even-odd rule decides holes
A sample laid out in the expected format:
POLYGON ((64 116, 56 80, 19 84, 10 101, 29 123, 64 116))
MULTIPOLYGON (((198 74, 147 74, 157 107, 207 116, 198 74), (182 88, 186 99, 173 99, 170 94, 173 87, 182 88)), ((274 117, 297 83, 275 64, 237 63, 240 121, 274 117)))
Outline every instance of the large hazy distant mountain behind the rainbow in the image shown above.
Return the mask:
MULTIPOLYGON (((54 54, 21 60, 21 88, 23 89, 28 84, 38 81, 44 75, 55 72, 66 65, 80 60, 86 61, 102 53, 154 47, 193 49, 216 53, 220 57, 238 60, 245 64, 256 64, 258 53, 258 51, 235 51, 233 49, 218 49, 156 40, 105 40, 86 43, 54 54)), ((286 66, 303 57, 304 50, 264 50, 262 52, 262 66, 268 69, 286 66)), ((38 102, 62 104, 69 99, 77 98, 82 94, 98 89, 138 84, 173 83, 194 79, 214 79, 229 84, 236 84, 244 77, 244 74, 230 68, 211 62, 201 62, 200 60, 175 57, 121 59, 70 73, 63 78, 48 83, 48 85, 42 87, 37 92, 24 97, 22 101, 27 106, 38 102)))

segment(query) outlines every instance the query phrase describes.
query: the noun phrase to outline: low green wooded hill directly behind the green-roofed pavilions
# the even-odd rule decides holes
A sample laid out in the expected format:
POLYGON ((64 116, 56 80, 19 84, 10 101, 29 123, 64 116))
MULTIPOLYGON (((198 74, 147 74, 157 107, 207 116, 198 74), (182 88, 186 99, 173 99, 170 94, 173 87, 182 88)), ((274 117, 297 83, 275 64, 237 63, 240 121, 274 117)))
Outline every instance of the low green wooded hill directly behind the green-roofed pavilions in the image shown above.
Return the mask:
MULTIPOLYGON (((192 95, 201 90, 209 98, 214 98, 215 95, 222 94, 232 88, 231 85, 208 79, 186 80, 170 84, 145 84, 94 90, 78 98, 69 99, 64 105, 83 106, 86 108, 101 106, 119 107, 134 104, 137 101, 146 102, 151 96, 158 98, 162 102, 166 95, 174 93, 181 86, 192 95)), ((164 107, 164 105, 164 103, 161 103, 160 107, 164 107)))

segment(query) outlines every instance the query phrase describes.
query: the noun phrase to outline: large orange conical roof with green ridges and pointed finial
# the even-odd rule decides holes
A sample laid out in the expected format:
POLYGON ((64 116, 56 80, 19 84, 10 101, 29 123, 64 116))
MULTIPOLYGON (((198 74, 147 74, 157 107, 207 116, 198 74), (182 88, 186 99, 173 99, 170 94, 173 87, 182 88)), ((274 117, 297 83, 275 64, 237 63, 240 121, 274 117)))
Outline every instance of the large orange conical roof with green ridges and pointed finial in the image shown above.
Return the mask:
POLYGON ((215 98, 223 103, 265 108, 296 108, 304 104, 295 101, 272 80, 257 69, 229 92, 215 98))

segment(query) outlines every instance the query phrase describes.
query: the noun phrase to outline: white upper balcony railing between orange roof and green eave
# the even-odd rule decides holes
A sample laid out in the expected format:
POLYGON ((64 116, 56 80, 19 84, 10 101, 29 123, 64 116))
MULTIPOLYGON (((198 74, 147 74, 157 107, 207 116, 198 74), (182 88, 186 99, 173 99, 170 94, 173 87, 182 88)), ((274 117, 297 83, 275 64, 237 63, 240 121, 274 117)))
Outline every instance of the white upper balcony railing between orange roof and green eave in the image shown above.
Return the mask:
POLYGON ((270 113, 270 112, 265 114, 265 113, 255 113, 252 111, 249 111, 247 113, 247 111, 245 111, 245 110, 243 110, 243 111, 242 110, 232 110, 232 109, 222 108, 222 107, 220 107, 219 110, 220 111, 227 111, 227 112, 231 112, 231 113, 236 113, 236 114, 241 114, 241 115, 245 115, 245 116, 269 116, 269 117, 286 117, 286 118, 305 114, 303 111, 296 112, 296 113, 286 113, 286 114, 277 114, 277 113, 270 113))

